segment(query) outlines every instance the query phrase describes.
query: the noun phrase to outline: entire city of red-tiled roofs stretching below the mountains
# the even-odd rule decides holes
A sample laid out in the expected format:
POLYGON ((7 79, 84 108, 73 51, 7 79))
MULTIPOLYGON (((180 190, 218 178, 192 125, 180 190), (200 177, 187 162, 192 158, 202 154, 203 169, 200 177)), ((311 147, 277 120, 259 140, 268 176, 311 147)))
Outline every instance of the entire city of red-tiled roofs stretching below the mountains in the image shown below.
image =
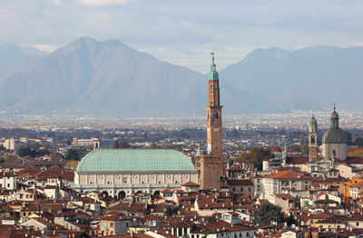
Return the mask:
POLYGON ((363 114, 0 119, 4 237, 363 237, 363 114))

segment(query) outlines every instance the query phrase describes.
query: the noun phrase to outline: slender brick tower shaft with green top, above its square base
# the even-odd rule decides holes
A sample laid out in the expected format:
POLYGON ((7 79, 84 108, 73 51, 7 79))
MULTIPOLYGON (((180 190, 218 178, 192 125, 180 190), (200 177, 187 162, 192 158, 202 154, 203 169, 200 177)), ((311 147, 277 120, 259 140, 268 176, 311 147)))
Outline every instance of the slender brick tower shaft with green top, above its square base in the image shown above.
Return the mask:
POLYGON ((208 74, 207 149, 208 154, 222 158, 220 80, 213 53, 211 72, 208 74))

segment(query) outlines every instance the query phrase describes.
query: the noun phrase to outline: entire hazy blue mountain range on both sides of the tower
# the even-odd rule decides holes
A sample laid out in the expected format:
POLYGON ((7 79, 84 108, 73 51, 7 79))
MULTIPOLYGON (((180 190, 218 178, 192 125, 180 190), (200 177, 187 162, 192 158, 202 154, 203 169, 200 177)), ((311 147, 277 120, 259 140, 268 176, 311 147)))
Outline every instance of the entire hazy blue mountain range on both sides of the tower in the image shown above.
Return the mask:
MULTIPOLYGON (((361 110, 362 64, 363 47, 256 49, 219 71, 223 112, 320 110, 334 102, 361 110)), ((0 47, 0 110, 6 114, 202 115, 206 90, 205 74, 117 40, 82 37, 50 54, 0 47)))

